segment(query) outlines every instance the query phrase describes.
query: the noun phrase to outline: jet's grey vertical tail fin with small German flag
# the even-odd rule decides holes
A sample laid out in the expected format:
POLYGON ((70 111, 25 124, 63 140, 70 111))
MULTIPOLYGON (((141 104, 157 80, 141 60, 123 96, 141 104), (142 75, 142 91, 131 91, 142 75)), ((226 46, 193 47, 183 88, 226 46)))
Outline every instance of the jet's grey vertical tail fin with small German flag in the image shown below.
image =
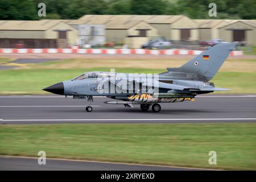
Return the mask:
POLYGON ((216 75, 236 43, 218 43, 194 57, 180 68, 184 73, 197 73, 201 80, 209 81, 216 75))

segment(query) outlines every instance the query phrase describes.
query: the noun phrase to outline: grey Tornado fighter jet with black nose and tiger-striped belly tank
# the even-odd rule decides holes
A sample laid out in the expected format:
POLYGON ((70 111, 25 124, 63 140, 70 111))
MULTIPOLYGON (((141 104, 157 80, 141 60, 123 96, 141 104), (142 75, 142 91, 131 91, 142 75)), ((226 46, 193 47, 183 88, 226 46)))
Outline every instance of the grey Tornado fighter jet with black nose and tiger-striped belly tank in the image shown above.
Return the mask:
POLYGON ((72 80, 59 82, 43 90, 73 98, 86 99, 86 111, 92 111, 90 106, 93 96, 106 96, 114 101, 105 104, 121 104, 133 107, 141 105, 143 111, 152 109, 158 113, 159 103, 194 101, 197 94, 229 89, 216 88, 209 82, 224 63, 236 43, 218 43, 206 47, 179 68, 167 68, 159 74, 130 74, 110 72, 87 72, 72 80))

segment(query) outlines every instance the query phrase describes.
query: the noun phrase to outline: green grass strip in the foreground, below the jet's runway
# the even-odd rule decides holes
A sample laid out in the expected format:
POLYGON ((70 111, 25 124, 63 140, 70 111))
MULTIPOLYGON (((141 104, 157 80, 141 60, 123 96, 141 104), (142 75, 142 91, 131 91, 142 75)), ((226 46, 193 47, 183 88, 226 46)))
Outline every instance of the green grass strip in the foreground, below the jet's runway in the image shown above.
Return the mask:
POLYGON ((256 169, 256 123, 2 125, 0 154, 256 169), (209 165, 209 151, 217 165, 209 165))

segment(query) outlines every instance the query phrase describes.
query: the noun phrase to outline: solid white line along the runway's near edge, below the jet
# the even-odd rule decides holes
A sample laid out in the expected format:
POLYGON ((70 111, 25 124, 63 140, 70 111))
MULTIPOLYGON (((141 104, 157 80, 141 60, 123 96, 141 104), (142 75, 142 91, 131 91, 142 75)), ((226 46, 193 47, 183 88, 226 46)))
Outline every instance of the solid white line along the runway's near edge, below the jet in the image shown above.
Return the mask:
POLYGON ((241 120, 255 120, 256 118, 162 118, 162 119, 0 119, 1 121, 241 121, 241 120))

